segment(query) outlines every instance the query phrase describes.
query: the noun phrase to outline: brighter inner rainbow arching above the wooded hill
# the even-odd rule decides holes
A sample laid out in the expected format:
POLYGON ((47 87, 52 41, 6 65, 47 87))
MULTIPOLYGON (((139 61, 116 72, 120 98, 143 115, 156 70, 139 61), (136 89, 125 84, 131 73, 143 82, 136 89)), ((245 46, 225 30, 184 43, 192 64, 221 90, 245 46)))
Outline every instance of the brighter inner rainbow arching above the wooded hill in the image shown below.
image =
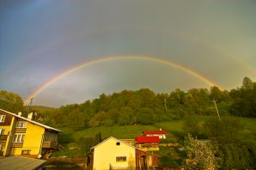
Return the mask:
POLYGON ((151 62, 156 62, 156 63, 160 63, 160 64, 167 64, 169 66, 178 68, 180 70, 185 71, 186 73, 197 77, 198 79, 202 80, 203 82, 206 82, 208 85, 210 86, 216 86, 219 87, 220 89, 222 89, 219 85, 217 85, 215 82, 210 81, 210 79, 208 79, 207 77, 200 75, 198 72, 187 68, 181 64, 177 64, 174 63, 170 60, 164 59, 164 58, 153 58, 153 57, 149 57, 149 56, 111 56, 111 57, 106 57, 106 58, 96 58, 90 61, 87 61, 85 63, 82 64, 78 64, 76 66, 71 67, 68 70, 65 70, 64 72, 58 74, 58 76, 54 76, 52 79, 50 79, 48 82, 44 83, 42 86, 40 86, 40 88, 37 88, 32 94, 30 94, 27 99, 24 101, 24 104, 28 104, 30 99, 34 98, 35 96, 37 96, 38 94, 40 94, 44 89, 48 88, 49 86, 51 86, 51 84, 53 82, 57 82, 59 79, 61 79, 64 76, 67 76, 68 74, 70 74, 71 72, 74 72, 76 70, 80 70, 83 67, 87 67, 88 65, 93 65, 93 64, 98 64, 98 63, 102 63, 102 62, 107 62, 107 61, 112 61, 112 60, 123 60, 123 59, 137 59, 137 60, 146 60, 146 61, 151 61, 151 62))

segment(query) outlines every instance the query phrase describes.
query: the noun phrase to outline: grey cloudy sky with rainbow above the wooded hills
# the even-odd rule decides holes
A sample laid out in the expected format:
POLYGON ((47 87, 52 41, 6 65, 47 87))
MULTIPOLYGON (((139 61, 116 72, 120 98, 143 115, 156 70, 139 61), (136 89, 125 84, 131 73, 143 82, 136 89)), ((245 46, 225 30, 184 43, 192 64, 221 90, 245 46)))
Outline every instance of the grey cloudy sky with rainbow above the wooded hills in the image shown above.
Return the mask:
POLYGON ((63 106, 256 81, 254 0, 1 0, 0 90, 63 106))

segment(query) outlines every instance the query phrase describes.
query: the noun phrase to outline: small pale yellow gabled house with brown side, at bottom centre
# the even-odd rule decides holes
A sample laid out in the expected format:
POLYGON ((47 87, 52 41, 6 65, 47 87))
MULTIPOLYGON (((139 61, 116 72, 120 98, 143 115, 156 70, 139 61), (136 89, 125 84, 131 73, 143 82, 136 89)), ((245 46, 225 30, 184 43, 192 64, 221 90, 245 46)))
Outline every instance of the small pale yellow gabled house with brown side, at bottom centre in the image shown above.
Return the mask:
POLYGON ((157 166, 158 155, 137 149, 115 137, 109 137, 91 149, 93 170, 143 169, 157 166))

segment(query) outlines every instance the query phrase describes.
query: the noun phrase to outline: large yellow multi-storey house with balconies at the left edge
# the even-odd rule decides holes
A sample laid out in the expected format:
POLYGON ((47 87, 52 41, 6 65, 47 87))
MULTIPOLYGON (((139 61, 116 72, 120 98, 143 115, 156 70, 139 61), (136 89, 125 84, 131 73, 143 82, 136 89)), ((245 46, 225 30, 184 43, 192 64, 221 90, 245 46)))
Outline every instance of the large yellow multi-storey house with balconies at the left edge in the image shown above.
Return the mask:
POLYGON ((48 150, 58 149, 58 133, 61 132, 33 119, 0 109, 0 155, 25 155, 41 157, 48 150))

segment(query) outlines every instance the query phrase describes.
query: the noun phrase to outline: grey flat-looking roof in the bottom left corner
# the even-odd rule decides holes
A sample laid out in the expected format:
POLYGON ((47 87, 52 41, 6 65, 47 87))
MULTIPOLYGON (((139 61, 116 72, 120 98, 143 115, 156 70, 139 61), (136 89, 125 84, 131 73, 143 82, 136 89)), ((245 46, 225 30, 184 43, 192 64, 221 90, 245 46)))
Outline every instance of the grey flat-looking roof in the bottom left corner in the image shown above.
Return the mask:
POLYGON ((2 170, 14 170, 14 169, 39 169, 46 161, 27 158, 22 156, 11 156, 0 159, 0 169, 2 170))

